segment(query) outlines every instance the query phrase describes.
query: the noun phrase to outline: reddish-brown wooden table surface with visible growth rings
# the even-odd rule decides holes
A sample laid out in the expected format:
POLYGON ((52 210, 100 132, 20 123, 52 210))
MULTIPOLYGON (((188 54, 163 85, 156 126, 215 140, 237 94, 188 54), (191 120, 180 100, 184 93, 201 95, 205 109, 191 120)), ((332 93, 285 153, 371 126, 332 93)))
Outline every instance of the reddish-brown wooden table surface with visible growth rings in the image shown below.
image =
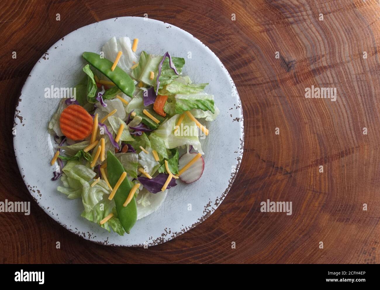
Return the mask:
POLYGON ((0 201, 30 201, 31 214, 0 213, 0 263, 379 263, 380 6, 313 2, 1 2, 0 201), (196 228, 148 249, 101 246, 61 227, 29 195, 14 157, 14 109, 55 41, 144 13, 194 35, 230 72, 244 156, 225 200, 196 228), (336 101, 306 98, 311 86, 336 88, 336 101), (292 214, 261 212, 268 199, 291 201, 292 214))

